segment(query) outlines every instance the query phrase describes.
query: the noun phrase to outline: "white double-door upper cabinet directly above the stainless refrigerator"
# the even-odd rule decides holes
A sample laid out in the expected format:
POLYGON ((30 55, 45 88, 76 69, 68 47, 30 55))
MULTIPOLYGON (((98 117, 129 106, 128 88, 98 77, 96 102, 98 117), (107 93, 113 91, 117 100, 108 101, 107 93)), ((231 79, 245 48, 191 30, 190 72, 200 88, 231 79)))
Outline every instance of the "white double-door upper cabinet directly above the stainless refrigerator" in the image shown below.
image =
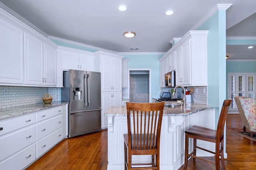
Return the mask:
POLYGON ((59 47, 62 51, 63 70, 75 69, 94 71, 94 54, 68 47, 59 47))

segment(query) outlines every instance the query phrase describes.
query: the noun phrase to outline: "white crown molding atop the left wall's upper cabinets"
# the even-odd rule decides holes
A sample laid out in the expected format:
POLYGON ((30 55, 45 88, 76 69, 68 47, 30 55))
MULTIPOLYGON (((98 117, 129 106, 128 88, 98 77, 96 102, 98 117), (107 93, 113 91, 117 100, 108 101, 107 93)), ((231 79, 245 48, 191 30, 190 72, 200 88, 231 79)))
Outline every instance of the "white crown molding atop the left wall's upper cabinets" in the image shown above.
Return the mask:
POLYGON ((14 18, 20 20, 20 22, 23 22, 24 24, 26 24, 27 26, 29 26, 30 28, 32 28, 33 30, 35 30, 36 32, 38 32, 39 34, 42 34, 44 37, 48 37, 48 35, 43 32, 42 30, 40 30, 39 28, 37 28, 36 26, 34 26, 33 24, 31 24, 30 22, 28 22, 28 20, 26 20, 25 18, 23 18, 22 16, 20 16, 19 14, 17 14, 16 12, 14 12, 13 10, 11 10, 10 8, 8 8, 7 6, 5 6, 4 4, 2 4, 0 2, 0 8, 2 10, 4 10, 6 13, 10 14, 11 16, 13 16, 14 18))

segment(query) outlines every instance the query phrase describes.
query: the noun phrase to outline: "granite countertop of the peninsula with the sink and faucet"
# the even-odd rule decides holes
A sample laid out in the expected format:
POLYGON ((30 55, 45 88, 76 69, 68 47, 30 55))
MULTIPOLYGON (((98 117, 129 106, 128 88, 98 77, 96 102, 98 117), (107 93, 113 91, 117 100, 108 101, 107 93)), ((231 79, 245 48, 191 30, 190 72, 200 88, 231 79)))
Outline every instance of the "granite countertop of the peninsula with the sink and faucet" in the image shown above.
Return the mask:
MULTIPOLYGON (((187 103, 186 107, 180 103, 166 101, 164 107, 164 116, 188 116, 206 109, 218 109, 218 107, 202 105, 199 103, 187 103), (175 108, 168 105, 178 105, 175 108)), ((126 106, 112 106, 105 113, 105 116, 126 116, 126 106)))

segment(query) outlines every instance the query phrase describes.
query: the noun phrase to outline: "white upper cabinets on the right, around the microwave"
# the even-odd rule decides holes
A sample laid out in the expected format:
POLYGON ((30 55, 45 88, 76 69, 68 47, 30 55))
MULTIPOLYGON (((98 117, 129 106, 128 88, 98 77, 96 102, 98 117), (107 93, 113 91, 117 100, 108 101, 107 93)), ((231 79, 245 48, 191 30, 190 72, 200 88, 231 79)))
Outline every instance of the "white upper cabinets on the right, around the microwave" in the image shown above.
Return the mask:
POLYGON ((159 59, 170 61, 164 69, 176 70, 176 85, 207 86, 207 35, 208 31, 189 31, 159 59))

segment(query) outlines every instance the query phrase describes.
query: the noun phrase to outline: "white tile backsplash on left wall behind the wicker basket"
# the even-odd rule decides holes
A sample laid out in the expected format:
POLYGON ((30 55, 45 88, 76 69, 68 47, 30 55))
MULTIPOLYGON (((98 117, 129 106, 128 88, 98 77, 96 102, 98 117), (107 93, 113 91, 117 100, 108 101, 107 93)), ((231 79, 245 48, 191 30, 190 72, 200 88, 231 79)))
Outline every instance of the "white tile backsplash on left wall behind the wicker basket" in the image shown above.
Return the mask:
POLYGON ((0 109, 42 103, 46 93, 52 96, 52 101, 60 101, 57 87, 0 86, 0 109))

